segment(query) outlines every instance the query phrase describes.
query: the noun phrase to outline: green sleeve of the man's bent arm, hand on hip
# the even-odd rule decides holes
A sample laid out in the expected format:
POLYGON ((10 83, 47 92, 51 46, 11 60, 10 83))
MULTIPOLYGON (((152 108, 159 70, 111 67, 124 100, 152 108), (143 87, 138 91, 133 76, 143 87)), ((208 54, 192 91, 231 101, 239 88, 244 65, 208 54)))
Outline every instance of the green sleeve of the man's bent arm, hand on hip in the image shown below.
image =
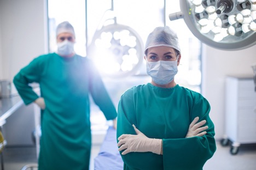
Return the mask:
POLYGON ((30 64, 22 68, 14 76, 13 83, 25 105, 31 104, 39 96, 33 91, 30 83, 39 82, 40 67, 38 59, 33 59, 30 64))

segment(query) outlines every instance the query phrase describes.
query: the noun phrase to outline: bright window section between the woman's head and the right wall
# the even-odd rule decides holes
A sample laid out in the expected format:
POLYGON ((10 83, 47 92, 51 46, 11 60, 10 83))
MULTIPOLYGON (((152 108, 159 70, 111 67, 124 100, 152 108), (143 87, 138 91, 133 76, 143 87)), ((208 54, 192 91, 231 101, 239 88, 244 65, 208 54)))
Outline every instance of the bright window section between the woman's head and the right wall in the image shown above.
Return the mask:
POLYGON ((180 11, 179 1, 166 0, 166 25, 178 35, 181 46, 181 64, 176 82, 195 92, 201 92, 201 42, 194 37, 183 19, 170 21, 168 15, 180 11))

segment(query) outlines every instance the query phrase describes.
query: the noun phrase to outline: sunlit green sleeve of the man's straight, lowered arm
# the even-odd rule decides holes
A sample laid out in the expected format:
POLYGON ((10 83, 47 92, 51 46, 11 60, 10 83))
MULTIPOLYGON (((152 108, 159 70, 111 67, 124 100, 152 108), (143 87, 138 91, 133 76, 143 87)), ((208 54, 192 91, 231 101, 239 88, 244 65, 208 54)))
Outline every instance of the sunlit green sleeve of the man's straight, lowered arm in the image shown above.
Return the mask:
POLYGON ((94 64, 90 64, 90 92, 95 104, 100 107, 107 120, 117 118, 117 110, 110 98, 102 78, 95 69, 94 64))

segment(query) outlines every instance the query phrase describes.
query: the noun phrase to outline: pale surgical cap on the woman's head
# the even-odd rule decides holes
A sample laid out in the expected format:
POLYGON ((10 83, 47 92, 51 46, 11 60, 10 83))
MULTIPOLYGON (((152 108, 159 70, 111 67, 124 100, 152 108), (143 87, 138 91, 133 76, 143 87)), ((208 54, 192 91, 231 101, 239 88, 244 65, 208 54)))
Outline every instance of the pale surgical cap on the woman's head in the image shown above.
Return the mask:
POLYGON ((172 47, 181 52, 177 34, 168 26, 156 27, 152 33, 148 35, 144 53, 150 47, 167 46, 172 47))

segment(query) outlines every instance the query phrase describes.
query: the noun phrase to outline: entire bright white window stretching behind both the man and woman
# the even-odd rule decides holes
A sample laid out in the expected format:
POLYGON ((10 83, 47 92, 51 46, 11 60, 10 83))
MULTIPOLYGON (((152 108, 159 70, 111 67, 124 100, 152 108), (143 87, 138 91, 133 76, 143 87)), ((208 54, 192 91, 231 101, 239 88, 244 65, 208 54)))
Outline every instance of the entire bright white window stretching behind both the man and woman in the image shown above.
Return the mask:
MULTIPOLYGON (((101 31, 104 26, 117 23, 118 25, 132 28, 141 38, 143 46, 146 43, 148 34, 155 27, 170 26, 177 31, 182 52, 181 65, 178 67, 176 81, 181 86, 188 87, 196 92, 201 91, 201 43, 191 34, 183 20, 170 21, 168 19, 168 14, 176 12, 177 9, 179 10, 179 1, 48 0, 48 6, 50 51, 56 50, 56 26, 60 22, 67 20, 71 22, 75 29, 77 38, 75 51, 81 56, 88 55, 91 59, 108 57, 106 53, 93 57, 89 53, 96 33, 101 31)), ((126 89, 138 84, 148 83, 151 80, 146 72, 143 54, 138 57, 142 58, 142 63, 139 68, 136 68, 135 72, 132 72, 132 75, 128 77, 119 76, 118 78, 102 75, 109 95, 116 107, 121 94, 126 89)), ((104 62, 103 64, 107 65, 104 62)), ((102 72, 106 72, 104 66, 100 66, 98 69, 103 69, 102 72)), ((91 125, 92 130, 106 130, 107 128, 102 112, 93 101, 91 101, 91 125)))

